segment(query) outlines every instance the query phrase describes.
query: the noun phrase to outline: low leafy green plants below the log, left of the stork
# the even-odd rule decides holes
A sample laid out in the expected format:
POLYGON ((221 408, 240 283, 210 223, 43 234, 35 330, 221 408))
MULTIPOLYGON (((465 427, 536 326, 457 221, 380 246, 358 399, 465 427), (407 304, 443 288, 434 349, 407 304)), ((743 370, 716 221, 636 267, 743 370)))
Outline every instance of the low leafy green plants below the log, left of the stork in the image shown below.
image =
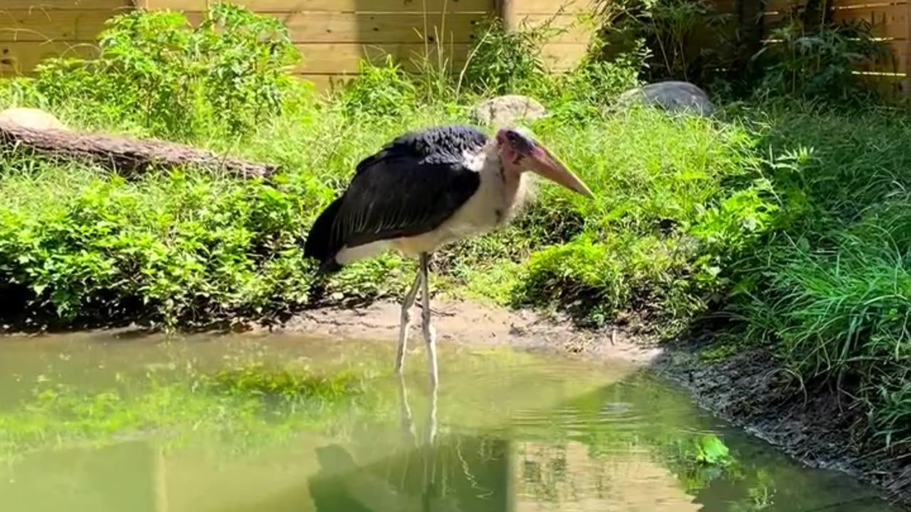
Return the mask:
MULTIPOLYGON (((0 208, 0 282, 28 288, 26 312, 193 323, 307 301, 299 244, 317 190, 181 172, 137 184, 83 176, 55 198, 0 208)), ((20 198, 41 193, 26 180, 11 187, 20 198)))

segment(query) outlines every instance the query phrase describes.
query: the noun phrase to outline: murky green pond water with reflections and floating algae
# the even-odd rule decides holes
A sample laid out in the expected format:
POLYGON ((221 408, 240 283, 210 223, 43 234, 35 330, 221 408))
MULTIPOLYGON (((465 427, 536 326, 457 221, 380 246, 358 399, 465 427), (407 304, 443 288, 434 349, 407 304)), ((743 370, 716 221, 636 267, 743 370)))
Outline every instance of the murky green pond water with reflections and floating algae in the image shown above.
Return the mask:
POLYGON ((0 510, 897 510, 630 365, 415 345, 0 338, 0 510))

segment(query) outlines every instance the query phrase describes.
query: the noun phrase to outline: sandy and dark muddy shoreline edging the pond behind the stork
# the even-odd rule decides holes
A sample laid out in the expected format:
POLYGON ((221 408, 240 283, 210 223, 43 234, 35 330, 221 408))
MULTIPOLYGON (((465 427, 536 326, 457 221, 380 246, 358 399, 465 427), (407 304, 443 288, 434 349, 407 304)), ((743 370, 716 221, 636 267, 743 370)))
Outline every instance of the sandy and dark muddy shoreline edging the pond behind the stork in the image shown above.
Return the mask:
MULTIPOLYGON (((591 331, 568 319, 530 310, 505 310, 476 302, 432 305, 437 343, 459 340, 622 359, 648 366, 688 390, 696 404, 774 445, 807 466, 842 471, 882 490, 886 499, 911 510, 911 465, 882 454, 858 453, 848 435, 856 416, 840 410, 826 390, 787 390, 770 353, 751 350, 717 363, 699 357, 700 343, 680 340, 661 347, 626 328, 591 331)), ((412 312, 411 346, 420 342, 420 309, 412 312)), ((399 306, 374 302, 359 308, 324 307, 304 312, 280 331, 329 336, 397 336, 399 306)))

